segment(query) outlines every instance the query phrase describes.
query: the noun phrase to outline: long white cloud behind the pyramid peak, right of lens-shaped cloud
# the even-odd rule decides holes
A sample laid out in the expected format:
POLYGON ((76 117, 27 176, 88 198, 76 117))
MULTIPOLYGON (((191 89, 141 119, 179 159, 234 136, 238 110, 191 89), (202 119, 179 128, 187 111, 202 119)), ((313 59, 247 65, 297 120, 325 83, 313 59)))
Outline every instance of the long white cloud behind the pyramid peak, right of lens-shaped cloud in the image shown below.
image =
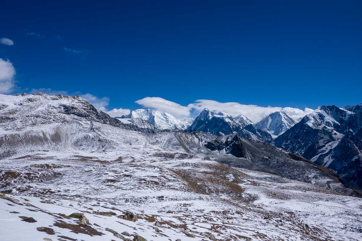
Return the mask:
POLYGON ((292 107, 262 107, 256 105, 245 105, 237 102, 222 103, 215 100, 196 100, 196 103, 189 104, 188 107, 194 108, 197 111, 202 111, 203 108, 210 109, 211 111, 222 111, 233 117, 243 114, 254 123, 260 121, 264 116, 267 116, 275 111, 284 111, 295 121, 299 121, 300 118, 313 111, 310 108, 305 108, 303 111, 302 109, 292 107))

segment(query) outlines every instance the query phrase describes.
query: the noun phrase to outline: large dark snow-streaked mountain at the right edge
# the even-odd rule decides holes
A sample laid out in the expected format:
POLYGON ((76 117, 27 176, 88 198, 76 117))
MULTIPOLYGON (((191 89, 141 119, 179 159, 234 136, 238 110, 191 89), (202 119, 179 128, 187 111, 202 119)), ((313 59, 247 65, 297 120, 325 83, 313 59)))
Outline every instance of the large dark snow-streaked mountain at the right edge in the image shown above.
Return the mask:
POLYGON ((320 106, 277 137, 275 146, 333 170, 362 190, 361 106, 320 106))

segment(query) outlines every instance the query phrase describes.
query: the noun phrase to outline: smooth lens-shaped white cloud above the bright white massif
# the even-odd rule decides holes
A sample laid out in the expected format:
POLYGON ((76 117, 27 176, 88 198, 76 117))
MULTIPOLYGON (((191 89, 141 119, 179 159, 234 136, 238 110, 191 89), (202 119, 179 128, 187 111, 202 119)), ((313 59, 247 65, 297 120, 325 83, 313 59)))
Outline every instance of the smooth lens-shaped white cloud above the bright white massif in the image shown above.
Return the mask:
POLYGON ((180 104, 160 97, 146 97, 135 102, 146 108, 153 108, 157 111, 170 113, 176 118, 186 118, 190 116, 189 107, 181 106, 180 104))

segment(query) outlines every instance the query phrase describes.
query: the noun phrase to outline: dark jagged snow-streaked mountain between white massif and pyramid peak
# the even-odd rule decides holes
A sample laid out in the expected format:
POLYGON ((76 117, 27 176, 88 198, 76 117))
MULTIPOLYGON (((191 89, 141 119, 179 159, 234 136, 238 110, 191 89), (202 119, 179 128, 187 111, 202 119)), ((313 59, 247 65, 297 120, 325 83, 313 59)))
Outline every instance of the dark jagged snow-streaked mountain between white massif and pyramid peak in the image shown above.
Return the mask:
POLYGON ((237 133, 241 137, 254 141, 269 142, 272 137, 269 133, 257 130, 247 117, 239 115, 235 121, 231 115, 224 112, 213 112, 205 108, 195 118, 192 125, 186 130, 201 130, 213 135, 227 135, 237 133), (245 124, 248 124, 245 126, 245 124))

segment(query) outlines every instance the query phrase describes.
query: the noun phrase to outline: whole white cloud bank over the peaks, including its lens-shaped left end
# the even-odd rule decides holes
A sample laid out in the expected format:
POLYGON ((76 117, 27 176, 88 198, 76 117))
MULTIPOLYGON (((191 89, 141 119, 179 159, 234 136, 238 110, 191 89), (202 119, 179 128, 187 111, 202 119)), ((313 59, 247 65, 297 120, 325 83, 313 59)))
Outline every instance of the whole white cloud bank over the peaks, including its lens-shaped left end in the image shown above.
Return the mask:
POLYGON ((276 111, 284 111, 293 120, 299 121, 300 118, 313 112, 310 108, 293 108, 293 107, 262 107, 256 105, 245 105, 237 102, 218 102, 215 100, 196 100, 195 103, 190 103, 188 106, 181 106, 175 102, 160 98, 160 97, 146 97, 136 100, 135 103, 140 104, 144 108, 152 108, 156 111, 163 111, 172 114, 177 118, 187 118, 195 112, 198 114, 202 109, 207 108, 211 111, 222 111, 235 117, 240 114, 247 116, 253 122, 260 121, 264 116, 276 111))

